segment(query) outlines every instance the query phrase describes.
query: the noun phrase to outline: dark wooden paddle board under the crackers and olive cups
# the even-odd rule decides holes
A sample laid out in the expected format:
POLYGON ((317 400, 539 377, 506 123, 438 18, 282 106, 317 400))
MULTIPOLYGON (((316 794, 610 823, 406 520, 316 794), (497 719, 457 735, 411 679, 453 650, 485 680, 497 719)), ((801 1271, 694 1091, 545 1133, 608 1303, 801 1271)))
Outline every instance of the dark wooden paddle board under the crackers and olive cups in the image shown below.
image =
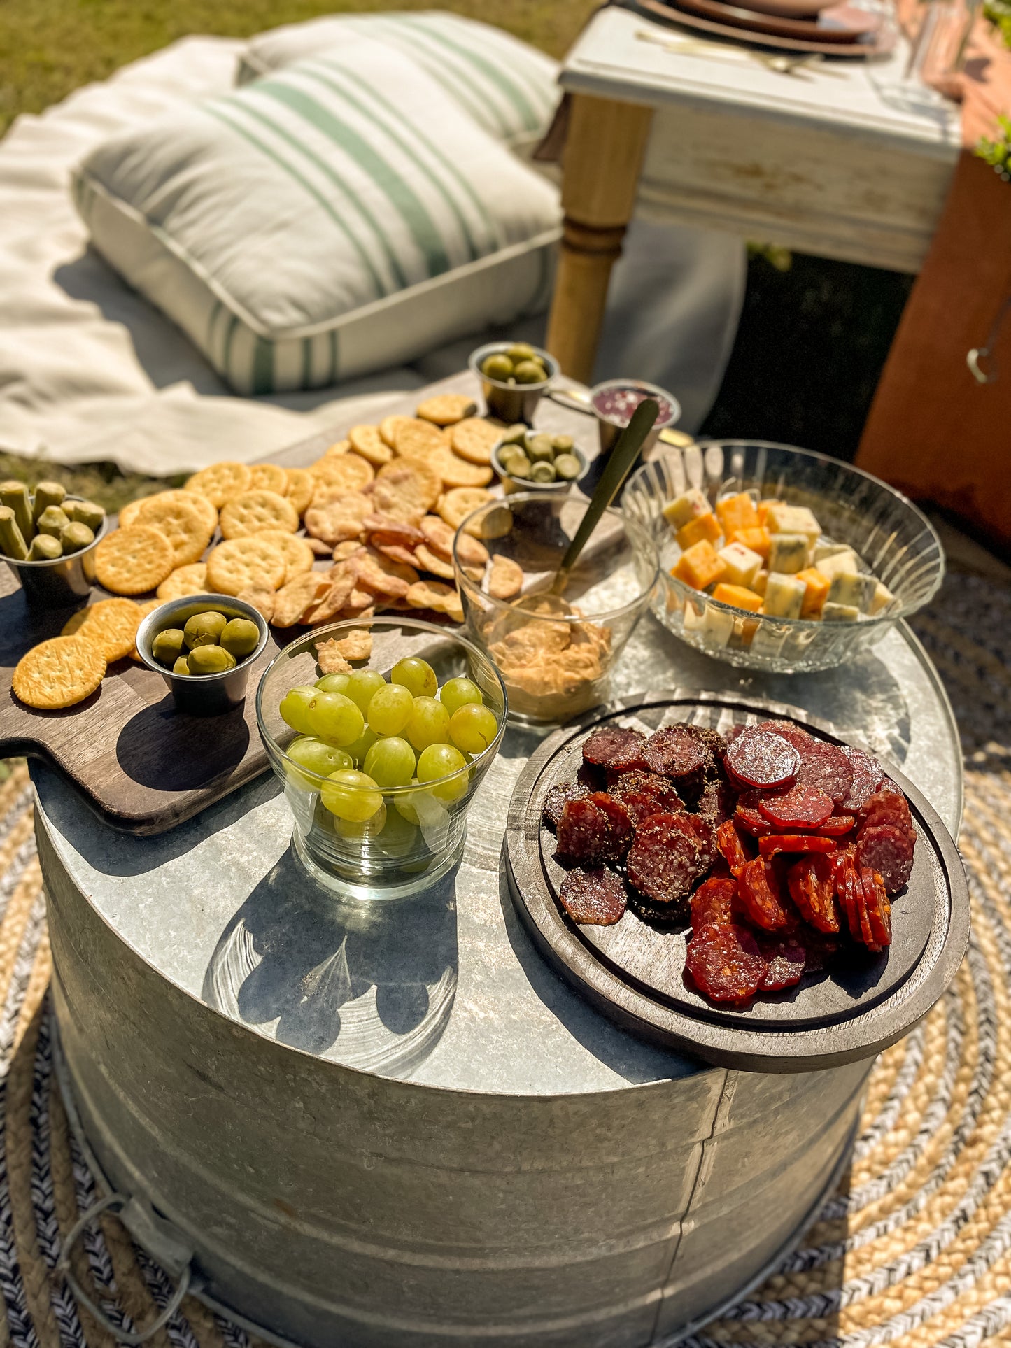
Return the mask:
MULTIPOLYGON (((480 406, 479 381, 466 372, 415 390, 387 411, 412 415, 422 399, 445 392, 466 392, 480 406)), ((592 417, 543 399, 537 421, 596 452, 592 417)), ((352 425, 299 441, 272 454, 271 462, 311 464, 352 425)), ((89 603, 108 597, 96 585, 89 603)), ((245 702, 225 716, 182 716, 164 681, 131 659, 109 666, 101 687, 77 706, 62 712, 24 706, 11 692, 13 667, 38 642, 58 636, 71 612, 30 609, 19 581, 0 562, 0 758, 46 760, 66 774, 105 824, 139 834, 173 828, 267 770, 256 729, 256 685, 283 632, 271 628, 267 650, 249 673, 245 702)), ((293 632, 301 635, 303 628, 293 632)))

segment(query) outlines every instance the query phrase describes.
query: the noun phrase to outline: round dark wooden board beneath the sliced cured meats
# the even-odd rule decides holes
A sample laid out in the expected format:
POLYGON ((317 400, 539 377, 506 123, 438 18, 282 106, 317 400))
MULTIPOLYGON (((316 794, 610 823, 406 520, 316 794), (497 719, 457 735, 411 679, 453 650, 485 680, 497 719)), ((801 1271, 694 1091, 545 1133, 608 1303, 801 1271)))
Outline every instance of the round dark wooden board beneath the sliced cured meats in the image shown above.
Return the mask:
POLYGON ((530 759, 510 803, 506 859, 510 890, 542 953, 597 1010, 627 1030, 717 1066, 811 1072, 874 1057, 902 1038, 948 988, 969 938, 969 892, 958 852, 921 793, 886 764, 906 793, 917 829, 913 875, 892 899, 892 945, 859 952, 797 987, 763 993, 747 1007, 721 1007, 685 979, 687 929, 654 926, 630 909, 615 926, 577 926, 557 899, 565 875, 545 795, 572 780, 582 743, 608 721, 654 731, 675 721, 728 731, 787 717, 834 744, 830 725, 759 698, 724 694, 640 694, 597 708, 555 731, 530 759))

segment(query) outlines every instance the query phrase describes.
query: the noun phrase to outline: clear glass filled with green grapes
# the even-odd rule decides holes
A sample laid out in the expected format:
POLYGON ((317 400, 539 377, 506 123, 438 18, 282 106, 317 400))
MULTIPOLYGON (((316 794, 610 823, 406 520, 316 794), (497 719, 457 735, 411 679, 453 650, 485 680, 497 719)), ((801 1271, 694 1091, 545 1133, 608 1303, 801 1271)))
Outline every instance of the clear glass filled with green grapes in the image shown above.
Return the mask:
POLYGON ((491 659, 434 623, 348 619, 286 646, 256 724, 306 869, 348 899, 429 888, 462 855, 507 712, 491 659))

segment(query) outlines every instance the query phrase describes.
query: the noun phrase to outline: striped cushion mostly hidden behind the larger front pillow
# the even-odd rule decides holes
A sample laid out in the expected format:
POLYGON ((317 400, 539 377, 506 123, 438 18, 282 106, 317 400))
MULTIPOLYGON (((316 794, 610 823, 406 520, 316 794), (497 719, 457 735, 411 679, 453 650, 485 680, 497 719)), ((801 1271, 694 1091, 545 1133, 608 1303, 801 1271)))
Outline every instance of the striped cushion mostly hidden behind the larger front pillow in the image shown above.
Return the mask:
POLYGON ((247 47, 239 84, 353 46, 406 55, 512 148, 541 140, 558 104, 555 61, 501 28, 441 11, 332 15, 275 28, 247 47))

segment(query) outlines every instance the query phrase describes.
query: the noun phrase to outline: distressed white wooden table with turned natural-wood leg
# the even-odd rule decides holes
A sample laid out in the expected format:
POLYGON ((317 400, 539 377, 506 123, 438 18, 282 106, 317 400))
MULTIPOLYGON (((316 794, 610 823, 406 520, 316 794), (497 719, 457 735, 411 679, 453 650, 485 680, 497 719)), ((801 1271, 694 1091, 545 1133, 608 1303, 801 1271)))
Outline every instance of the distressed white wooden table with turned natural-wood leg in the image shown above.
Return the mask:
POLYGON ((880 61, 793 73, 768 54, 601 9, 569 53, 565 236, 547 346, 589 380, 611 268, 632 213, 915 272, 961 144, 954 106, 880 61))

